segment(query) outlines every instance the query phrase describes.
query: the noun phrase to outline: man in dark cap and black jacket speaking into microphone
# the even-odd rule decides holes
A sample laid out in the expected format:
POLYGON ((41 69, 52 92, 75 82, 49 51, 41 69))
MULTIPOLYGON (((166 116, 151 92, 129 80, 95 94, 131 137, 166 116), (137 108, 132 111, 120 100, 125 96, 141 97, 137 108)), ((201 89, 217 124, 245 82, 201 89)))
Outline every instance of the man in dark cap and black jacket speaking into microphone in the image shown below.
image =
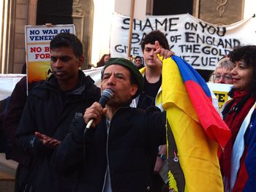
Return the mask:
POLYGON ((105 108, 94 102, 83 118, 74 120, 53 164, 61 175, 77 172, 76 192, 151 191, 148 157, 165 143, 165 113, 157 107, 129 107, 143 88, 143 77, 127 59, 110 58, 105 64, 101 90, 106 88, 113 99, 105 108), (94 123, 85 130, 91 119, 94 123))

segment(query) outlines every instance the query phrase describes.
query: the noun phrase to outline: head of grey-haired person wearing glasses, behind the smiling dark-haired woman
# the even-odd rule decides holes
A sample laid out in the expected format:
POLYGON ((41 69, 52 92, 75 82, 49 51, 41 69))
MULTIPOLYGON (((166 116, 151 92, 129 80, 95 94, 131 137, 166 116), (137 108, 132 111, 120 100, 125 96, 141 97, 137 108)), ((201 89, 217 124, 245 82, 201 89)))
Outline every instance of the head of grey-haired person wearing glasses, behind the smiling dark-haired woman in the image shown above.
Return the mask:
POLYGON ((230 58, 221 58, 216 66, 213 74, 211 74, 210 82, 232 84, 231 70, 233 69, 233 63, 230 58))

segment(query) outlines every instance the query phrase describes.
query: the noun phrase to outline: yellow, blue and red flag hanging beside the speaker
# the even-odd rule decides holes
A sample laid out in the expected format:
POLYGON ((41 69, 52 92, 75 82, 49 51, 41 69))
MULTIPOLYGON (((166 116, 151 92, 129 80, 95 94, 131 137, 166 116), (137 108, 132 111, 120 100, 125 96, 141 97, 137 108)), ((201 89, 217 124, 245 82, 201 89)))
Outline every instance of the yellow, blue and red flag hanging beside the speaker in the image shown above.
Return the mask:
POLYGON ((206 82, 176 55, 163 61, 162 106, 170 191, 223 191, 217 150, 225 146, 230 130, 211 104, 206 82))

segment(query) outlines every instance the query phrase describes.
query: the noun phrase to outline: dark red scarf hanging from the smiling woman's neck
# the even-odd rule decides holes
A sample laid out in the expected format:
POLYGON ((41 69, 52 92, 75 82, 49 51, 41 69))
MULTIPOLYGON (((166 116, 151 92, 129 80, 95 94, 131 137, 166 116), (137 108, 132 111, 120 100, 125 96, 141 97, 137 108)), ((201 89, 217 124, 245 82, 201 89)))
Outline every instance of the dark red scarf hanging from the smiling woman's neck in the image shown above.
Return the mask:
POLYGON ((225 150, 220 157, 220 166, 222 168, 222 175, 227 177, 228 187, 230 183, 230 163, 231 163, 231 151, 233 144, 236 140, 236 136, 241 127, 241 124, 246 118, 249 110, 255 104, 255 98, 250 96, 249 92, 234 91, 233 100, 225 107, 222 114, 225 116, 225 123, 231 130, 231 138, 225 146, 225 150))

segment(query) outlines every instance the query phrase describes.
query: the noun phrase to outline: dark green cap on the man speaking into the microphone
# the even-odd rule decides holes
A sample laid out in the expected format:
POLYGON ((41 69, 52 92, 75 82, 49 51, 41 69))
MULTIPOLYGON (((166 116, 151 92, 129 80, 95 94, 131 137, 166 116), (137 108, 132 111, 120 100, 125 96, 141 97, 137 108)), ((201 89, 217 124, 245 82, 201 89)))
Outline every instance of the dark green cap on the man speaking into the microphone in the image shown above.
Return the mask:
POLYGON ((138 85, 138 91, 135 93, 134 96, 132 96, 132 99, 137 97, 143 90, 144 81, 142 75, 140 74, 140 71, 136 68, 135 64, 125 58, 110 58, 102 69, 102 75, 105 69, 110 65, 121 65, 129 70, 132 80, 135 80, 136 85, 138 85))

